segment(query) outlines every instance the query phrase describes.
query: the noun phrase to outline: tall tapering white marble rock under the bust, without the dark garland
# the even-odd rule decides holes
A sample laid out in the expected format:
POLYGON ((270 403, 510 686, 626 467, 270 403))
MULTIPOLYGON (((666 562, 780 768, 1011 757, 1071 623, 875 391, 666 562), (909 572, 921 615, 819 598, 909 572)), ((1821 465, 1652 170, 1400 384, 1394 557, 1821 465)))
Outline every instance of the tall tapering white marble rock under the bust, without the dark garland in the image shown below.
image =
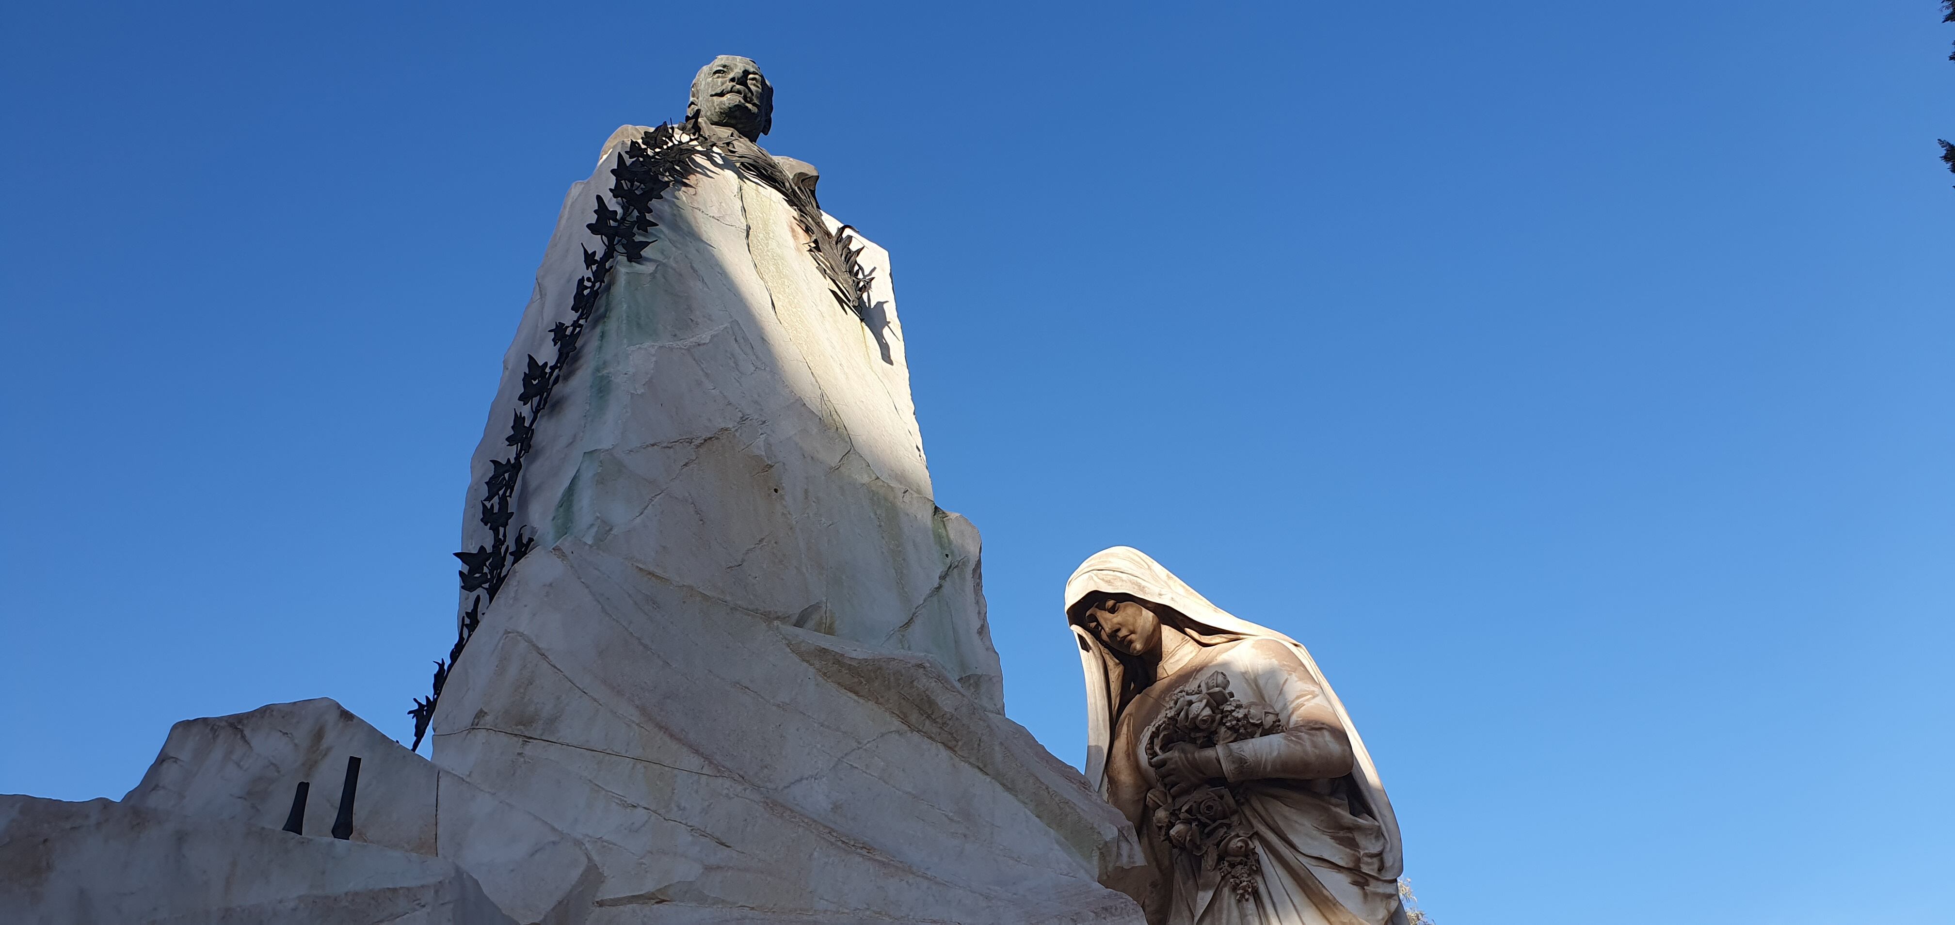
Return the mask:
MULTIPOLYGON (((465 548, 612 151, 645 131, 565 199, 465 548)), ((1138 870, 1132 829, 1003 716, 888 256, 856 239, 874 311, 841 309, 784 198, 717 156, 655 219, 536 422, 516 522, 540 544, 448 675, 434 763, 579 841, 590 923, 1140 921, 1101 886, 1138 870)))

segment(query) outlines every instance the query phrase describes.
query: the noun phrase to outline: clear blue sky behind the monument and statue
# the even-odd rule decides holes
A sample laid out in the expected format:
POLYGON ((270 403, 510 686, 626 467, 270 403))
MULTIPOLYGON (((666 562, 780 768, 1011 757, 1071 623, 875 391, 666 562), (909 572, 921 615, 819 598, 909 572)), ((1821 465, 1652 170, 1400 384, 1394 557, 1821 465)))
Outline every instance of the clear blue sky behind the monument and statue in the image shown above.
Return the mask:
POLYGON ((409 6, 0 14, 0 792, 409 735, 563 192, 737 53, 1060 757, 1132 544, 1316 651, 1443 925, 1955 921, 1933 2, 409 6))

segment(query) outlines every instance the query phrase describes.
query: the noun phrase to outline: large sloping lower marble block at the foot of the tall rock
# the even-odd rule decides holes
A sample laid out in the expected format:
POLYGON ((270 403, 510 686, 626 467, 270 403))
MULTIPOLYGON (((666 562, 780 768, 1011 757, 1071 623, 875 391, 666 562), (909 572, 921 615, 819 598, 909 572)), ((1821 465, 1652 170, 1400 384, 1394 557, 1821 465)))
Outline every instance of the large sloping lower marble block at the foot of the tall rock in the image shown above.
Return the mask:
POLYGON ((577 540, 502 596, 522 606, 450 675, 434 757, 581 839, 590 921, 1140 921, 1101 886, 1142 864, 1118 812, 934 659, 577 540))

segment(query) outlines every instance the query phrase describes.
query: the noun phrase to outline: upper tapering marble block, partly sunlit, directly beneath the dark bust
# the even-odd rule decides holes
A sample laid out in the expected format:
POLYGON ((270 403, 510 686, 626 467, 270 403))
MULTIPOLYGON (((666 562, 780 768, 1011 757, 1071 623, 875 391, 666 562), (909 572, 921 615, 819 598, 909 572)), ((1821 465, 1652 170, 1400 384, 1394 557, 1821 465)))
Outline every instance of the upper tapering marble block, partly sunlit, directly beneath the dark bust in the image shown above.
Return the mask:
MULTIPOLYGON (((483 481, 508 456, 528 356, 555 356, 549 329, 600 248, 585 225, 610 166, 565 198, 471 462, 461 550, 489 544, 483 481)), ((888 254, 856 239, 876 276, 864 323, 766 186, 712 168, 655 217, 536 424, 514 524, 540 550, 577 540, 743 612, 925 653, 1001 712, 978 530, 933 501, 888 254)))

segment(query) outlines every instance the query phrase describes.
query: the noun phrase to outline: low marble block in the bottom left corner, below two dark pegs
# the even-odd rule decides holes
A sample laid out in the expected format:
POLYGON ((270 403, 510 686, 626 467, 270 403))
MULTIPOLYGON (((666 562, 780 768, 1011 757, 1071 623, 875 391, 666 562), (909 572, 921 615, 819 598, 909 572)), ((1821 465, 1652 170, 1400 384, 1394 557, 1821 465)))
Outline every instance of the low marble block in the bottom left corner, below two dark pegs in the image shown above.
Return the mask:
POLYGON ((33 796, 0 796, 0 921, 512 925, 452 860, 33 796))

